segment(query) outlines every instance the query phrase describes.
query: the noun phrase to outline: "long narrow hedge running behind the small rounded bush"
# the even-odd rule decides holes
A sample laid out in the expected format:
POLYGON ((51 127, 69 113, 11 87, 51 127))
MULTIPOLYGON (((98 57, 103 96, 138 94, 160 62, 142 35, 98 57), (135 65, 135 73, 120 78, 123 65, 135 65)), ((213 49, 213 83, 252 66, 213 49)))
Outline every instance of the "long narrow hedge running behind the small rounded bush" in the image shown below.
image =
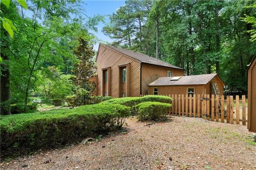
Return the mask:
POLYGON ((114 98, 107 101, 103 101, 102 104, 120 104, 124 106, 131 107, 132 114, 134 115, 135 106, 145 102, 145 101, 158 101, 161 103, 172 103, 172 98, 167 96, 155 96, 155 95, 148 95, 144 97, 124 97, 124 98, 114 98))

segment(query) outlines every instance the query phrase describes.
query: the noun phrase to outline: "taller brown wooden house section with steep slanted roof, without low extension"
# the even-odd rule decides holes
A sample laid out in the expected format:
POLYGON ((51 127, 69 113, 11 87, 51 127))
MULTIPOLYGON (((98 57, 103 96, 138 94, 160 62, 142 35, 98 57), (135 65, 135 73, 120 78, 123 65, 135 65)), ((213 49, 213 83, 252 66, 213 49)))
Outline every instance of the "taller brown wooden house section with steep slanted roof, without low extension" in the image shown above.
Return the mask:
POLYGON ((110 45, 99 45, 93 95, 135 97, 148 94, 148 84, 159 77, 183 76, 184 70, 148 55, 110 45))

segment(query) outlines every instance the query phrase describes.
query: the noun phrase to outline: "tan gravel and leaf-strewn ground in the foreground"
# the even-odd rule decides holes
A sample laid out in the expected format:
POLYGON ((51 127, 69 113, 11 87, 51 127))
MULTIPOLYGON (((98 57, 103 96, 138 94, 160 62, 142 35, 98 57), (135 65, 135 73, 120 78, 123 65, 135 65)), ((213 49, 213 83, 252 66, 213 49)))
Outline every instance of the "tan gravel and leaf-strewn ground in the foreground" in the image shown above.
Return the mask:
POLYGON ((98 142, 2 162, 1 169, 256 169, 256 146, 246 126, 189 117, 154 124, 129 118, 125 129, 98 142))

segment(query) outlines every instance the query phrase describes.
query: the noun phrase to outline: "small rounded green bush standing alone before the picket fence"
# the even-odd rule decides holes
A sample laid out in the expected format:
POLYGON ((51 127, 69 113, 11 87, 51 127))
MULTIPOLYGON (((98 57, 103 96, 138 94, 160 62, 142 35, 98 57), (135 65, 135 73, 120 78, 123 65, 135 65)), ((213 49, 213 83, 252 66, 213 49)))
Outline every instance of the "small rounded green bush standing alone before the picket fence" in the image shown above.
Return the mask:
POLYGON ((171 109, 171 104, 155 101, 146 101, 135 106, 138 112, 137 118, 140 121, 145 120, 163 120, 171 109))

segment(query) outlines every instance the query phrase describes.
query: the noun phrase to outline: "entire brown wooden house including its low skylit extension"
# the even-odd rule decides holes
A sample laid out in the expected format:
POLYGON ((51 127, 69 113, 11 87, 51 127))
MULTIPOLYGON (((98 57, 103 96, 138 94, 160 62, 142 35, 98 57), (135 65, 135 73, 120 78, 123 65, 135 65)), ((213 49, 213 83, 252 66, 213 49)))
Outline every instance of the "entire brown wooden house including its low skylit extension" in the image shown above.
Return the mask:
POLYGON ((217 74, 184 76, 184 69, 132 50, 100 44, 96 61, 96 75, 89 78, 95 96, 212 94, 213 85, 223 92, 217 74))

